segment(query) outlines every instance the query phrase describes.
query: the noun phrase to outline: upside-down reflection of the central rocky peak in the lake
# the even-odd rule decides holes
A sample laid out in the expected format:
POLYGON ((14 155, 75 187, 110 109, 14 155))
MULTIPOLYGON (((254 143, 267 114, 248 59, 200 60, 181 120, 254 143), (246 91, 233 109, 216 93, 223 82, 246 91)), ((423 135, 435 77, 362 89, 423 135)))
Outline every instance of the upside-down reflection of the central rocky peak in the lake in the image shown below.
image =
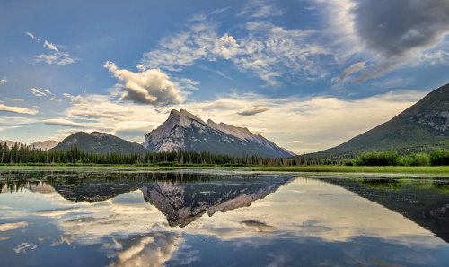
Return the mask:
MULTIPOLYGON (((286 185, 294 177, 258 177, 245 180, 240 177, 216 179, 212 182, 194 183, 154 182, 140 190, 146 202, 161 211, 171 227, 183 228, 205 213, 209 217, 217 211, 226 212, 250 207, 286 185)), ((251 221, 247 223, 251 224, 251 221)))

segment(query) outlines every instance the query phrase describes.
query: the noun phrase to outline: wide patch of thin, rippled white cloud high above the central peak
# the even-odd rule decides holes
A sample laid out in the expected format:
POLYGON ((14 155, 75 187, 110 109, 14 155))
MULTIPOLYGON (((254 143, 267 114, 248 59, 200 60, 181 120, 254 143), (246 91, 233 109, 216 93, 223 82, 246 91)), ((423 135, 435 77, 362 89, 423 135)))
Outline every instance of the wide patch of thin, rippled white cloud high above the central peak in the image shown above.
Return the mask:
POLYGON ((217 25, 192 22, 188 30, 163 39, 159 46, 143 55, 147 68, 159 67, 180 71, 199 60, 230 60, 241 72, 251 70, 267 86, 277 87, 278 78, 315 81, 329 75, 324 71, 323 56, 332 59, 331 51, 309 38, 315 30, 286 30, 269 22, 249 22, 250 32, 242 39, 231 34, 219 36, 217 25))

